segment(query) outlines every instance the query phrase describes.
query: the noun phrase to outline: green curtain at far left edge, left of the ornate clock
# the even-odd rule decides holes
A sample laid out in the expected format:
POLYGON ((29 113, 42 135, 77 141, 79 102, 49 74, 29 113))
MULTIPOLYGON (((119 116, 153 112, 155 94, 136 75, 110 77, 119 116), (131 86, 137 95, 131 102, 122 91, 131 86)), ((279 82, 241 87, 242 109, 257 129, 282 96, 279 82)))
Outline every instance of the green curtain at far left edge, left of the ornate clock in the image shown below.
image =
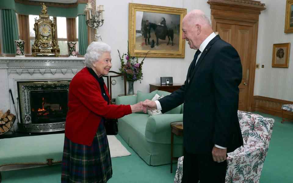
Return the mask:
POLYGON ((15 11, 12 9, 2 9, 2 37, 3 53, 15 54, 16 45, 14 40, 19 39, 18 27, 15 11))

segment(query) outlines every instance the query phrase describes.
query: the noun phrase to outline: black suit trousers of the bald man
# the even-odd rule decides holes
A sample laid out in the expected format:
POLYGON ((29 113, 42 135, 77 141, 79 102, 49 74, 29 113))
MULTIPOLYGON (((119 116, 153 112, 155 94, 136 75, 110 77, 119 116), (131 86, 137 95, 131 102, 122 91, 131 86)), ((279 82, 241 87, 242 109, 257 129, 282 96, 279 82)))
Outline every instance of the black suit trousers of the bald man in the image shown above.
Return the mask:
POLYGON ((227 161, 215 162, 211 154, 184 152, 182 183, 225 183, 227 161))

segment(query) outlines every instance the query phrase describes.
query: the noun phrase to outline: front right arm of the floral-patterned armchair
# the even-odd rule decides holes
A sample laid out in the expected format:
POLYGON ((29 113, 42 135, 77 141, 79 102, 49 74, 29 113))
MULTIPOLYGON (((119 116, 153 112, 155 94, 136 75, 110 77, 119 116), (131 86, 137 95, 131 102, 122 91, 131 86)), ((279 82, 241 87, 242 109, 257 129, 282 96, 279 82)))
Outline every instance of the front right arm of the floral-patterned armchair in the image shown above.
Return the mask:
POLYGON ((236 179, 237 182, 252 179, 258 182, 266 156, 265 151, 264 147, 253 146, 238 154, 228 153, 226 182, 236 179))

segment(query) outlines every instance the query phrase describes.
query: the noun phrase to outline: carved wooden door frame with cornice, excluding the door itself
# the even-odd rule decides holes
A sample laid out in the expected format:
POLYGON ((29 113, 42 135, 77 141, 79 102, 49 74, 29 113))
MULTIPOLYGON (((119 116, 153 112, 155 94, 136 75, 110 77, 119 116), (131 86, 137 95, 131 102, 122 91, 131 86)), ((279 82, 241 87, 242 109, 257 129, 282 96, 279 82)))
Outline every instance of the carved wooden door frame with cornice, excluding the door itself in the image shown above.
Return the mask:
POLYGON ((254 30, 252 49, 252 60, 249 66, 248 93, 247 93, 247 111, 254 111, 254 82, 255 82, 255 64, 256 50, 259 27, 259 14, 266 9, 265 4, 253 0, 237 2, 235 0, 208 0, 211 6, 212 29, 216 30, 217 23, 233 23, 234 25, 252 26, 254 30))

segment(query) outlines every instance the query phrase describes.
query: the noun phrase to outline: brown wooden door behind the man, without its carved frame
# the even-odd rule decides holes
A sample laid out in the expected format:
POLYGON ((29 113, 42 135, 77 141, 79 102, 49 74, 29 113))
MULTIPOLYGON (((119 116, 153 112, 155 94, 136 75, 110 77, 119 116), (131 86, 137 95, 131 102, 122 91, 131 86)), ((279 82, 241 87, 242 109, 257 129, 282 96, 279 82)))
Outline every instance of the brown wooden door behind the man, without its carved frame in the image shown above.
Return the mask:
POLYGON ((249 69, 252 60, 250 45, 253 45, 254 31, 249 25, 235 25, 229 23, 216 23, 216 31, 220 37, 230 43, 238 52, 242 64, 242 82, 239 85, 238 110, 247 111, 249 101, 249 69))

